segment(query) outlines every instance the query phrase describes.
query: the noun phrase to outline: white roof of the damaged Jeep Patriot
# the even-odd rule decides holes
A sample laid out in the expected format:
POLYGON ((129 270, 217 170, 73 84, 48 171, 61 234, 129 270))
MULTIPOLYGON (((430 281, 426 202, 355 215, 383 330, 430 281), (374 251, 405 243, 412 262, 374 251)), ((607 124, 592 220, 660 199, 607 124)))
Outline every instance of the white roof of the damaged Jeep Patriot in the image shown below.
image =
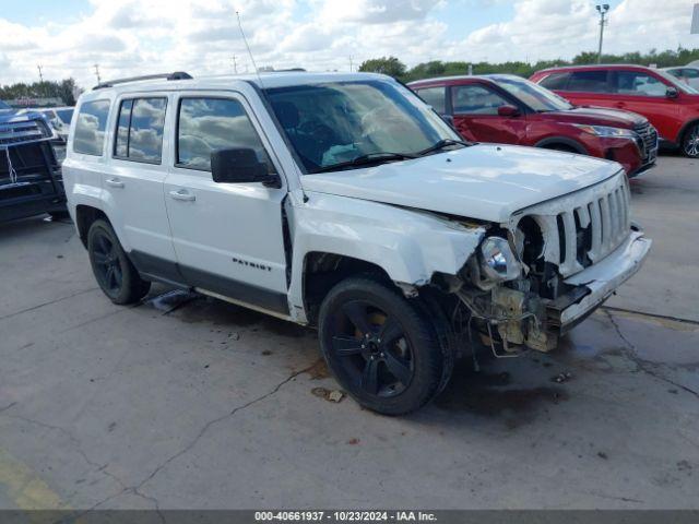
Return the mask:
POLYGON ((360 80, 391 80, 378 73, 307 73, 307 72, 265 72, 257 74, 226 74, 216 76, 199 76, 185 80, 132 80, 115 85, 105 85, 85 93, 85 98, 95 99, 103 93, 131 93, 144 91, 186 91, 186 90, 221 90, 226 91, 236 84, 254 84, 261 88, 288 87, 304 84, 325 82, 352 82, 360 80))

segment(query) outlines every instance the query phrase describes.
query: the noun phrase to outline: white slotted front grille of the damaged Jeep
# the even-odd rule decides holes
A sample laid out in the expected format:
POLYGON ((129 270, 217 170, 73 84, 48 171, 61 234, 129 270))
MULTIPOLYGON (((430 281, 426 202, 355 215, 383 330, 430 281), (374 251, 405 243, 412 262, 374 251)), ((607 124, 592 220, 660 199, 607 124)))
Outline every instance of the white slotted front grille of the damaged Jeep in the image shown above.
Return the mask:
POLYGON ((542 255, 557 262, 567 277, 599 262, 614 251, 631 227, 630 194, 623 171, 591 188, 516 214, 518 223, 532 217, 544 236, 542 255))

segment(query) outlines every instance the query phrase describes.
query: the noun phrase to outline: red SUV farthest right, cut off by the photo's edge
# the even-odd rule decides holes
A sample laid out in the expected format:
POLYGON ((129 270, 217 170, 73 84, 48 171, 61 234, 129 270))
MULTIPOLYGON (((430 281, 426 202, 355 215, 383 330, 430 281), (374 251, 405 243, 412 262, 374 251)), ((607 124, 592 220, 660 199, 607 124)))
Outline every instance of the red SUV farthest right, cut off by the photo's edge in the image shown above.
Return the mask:
POLYGON ((642 66, 579 66, 538 71, 532 81, 573 104, 638 112, 657 129, 661 143, 699 157, 699 91, 642 66))

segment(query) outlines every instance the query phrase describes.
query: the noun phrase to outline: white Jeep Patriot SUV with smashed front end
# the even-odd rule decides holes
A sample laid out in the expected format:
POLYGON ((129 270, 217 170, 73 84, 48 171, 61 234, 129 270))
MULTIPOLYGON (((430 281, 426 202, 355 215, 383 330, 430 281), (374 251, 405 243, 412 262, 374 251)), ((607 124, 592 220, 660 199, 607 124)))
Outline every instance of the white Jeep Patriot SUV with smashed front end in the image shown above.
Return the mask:
POLYGON ((66 192, 99 286, 316 325, 370 409, 423 406, 476 343, 555 348, 649 251, 618 164, 464 143, 390 78, 159 76, 96 86, 71 126, 66 192))

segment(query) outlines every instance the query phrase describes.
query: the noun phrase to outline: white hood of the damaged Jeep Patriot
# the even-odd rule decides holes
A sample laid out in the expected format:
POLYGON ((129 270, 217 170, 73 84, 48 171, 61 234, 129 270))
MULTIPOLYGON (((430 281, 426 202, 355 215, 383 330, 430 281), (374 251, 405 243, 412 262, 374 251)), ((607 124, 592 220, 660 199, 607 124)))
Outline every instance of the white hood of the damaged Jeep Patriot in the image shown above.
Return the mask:
POLYGON ((613 162, 534 147, 478 144, 363 169, 306 175, 330 193, 503 224, 530 205, 605 180, 613 162))

